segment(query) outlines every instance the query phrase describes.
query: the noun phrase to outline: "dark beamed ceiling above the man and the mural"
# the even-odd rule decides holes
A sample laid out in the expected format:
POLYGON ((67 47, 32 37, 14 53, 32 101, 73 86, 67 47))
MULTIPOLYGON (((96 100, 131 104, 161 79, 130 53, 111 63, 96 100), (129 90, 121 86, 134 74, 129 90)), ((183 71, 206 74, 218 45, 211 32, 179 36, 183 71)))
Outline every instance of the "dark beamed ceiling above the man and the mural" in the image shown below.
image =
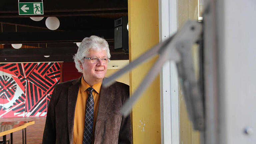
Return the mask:
POLYGON ((51 0, 43 1, 43 8, 44 15, 19 15, 18 1, 0 0, 0 62, 70 62, 78 48, 74 42, 91 35, 108 41, 112 60, 129 59, 128 52, 114 49, 114 20, 128 16, 127 0, 51 0), (33 21, 31 16, 44 19, 33 21), (52 16, 60 21, 57 30, 45 25, 52 16), (23 46, 14 49, 14 43, 23 46))

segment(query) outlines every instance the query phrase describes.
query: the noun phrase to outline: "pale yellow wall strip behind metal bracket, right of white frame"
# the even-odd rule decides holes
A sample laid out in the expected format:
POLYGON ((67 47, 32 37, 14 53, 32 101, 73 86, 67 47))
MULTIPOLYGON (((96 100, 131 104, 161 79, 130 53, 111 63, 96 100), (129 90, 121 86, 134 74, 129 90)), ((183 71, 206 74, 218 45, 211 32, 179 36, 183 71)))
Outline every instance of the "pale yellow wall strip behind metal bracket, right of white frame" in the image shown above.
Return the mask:
MULTIPOLYGON (((178 28, 188 20, 198 19, 198 0, 178 0, 178 28)), ((195 61, 198 56, 197 46, 193 47, 193 55, 195 61)), ((195 64, 198 69, 198 64, 195 64)), ((197 75, 198 76, 198 75, 197 75)), ((184 101, 184 97, 179 89, 179 105, 180 105, 180 143, 181 144, 200 144, 200 135, 198 131, 193 130, 193 125, 189 121, 188 113, 184 101)))

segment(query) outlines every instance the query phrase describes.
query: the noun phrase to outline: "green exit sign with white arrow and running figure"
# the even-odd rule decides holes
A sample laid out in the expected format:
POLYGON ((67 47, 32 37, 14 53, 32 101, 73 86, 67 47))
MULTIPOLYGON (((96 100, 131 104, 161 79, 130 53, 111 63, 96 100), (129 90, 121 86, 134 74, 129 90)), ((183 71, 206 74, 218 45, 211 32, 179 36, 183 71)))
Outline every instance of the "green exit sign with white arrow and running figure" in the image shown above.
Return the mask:
POLYGON ((43 15, 43 2, 19 2, 19 15, 43 15))

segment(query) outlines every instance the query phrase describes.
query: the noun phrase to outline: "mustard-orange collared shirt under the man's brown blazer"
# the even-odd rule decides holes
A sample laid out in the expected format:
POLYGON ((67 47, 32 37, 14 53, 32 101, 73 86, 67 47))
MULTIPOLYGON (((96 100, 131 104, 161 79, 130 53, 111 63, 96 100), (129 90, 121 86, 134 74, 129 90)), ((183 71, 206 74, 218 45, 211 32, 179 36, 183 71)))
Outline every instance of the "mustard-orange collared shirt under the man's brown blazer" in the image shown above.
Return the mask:
MULTIPOLYGON (((93 116, 93 142, 94 143, 94 129, 96 124, 96 118, 98 113, 98 106, 99 106, 99 96, 100 96, 100 89, 101 83, 97 83, 92 86, 94 91, 92 92, 93 99, 94 99, 94 116, 93 116)), ((86 103, 88 99, 88 90, 87 88, 90 87, 84 78, 82 77, 81 85, 79 87, 77 101, 76 101, 76 108, 75 108, 75 119, 74 119, 74 132, 73 132, 73 144, 83 144, 83 135, 84 135, 84 119, 85 119, 85 111, 86 111, 86 103)))

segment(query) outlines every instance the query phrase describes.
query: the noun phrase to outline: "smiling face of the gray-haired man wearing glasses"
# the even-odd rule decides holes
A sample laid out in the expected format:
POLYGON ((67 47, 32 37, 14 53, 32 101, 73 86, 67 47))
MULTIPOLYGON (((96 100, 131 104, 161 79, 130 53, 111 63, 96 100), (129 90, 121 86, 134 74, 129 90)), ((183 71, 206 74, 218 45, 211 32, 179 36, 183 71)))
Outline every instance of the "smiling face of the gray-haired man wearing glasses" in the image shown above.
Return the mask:
MULTIPOLYGON (((107 52, 105 50, 95 51, 89 50, 89 58, 107 58, 107 52)), ((99 60, 98 63, 92 63, 89 59, 84 59, 84 63, 80 65, 83 70, 83 77, 88 84, 96 84, 103 80, 107 73, 107 63, 103 63, 99 60), (95 83, 96 82, 96 83, 95 83)))

